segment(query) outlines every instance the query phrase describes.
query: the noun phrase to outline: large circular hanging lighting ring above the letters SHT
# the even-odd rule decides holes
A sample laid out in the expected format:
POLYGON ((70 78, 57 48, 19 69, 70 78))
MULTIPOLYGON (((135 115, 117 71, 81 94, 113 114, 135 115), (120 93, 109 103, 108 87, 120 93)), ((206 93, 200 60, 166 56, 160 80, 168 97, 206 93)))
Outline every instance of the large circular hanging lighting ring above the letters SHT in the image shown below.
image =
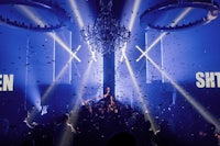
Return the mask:
POLYGON ((219 4, 213 0, 167 0, 145 10, 140 23, 144 30, 178 31, 208 24, 218 14, 219 4), (177 15, 183 15, 184 11, 185 16, 179 19, 177 15))

